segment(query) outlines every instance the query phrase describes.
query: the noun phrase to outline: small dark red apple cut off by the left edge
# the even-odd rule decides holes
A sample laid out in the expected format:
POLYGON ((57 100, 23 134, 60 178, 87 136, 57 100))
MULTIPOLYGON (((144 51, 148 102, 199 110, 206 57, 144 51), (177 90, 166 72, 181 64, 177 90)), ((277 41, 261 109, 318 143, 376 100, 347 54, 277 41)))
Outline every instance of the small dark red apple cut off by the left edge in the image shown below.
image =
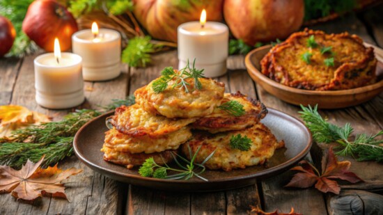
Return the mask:
POLYGON ((0 16, 0 57, 8 53, 15 41, 16 31, 12 23, 6 18, 0 16))

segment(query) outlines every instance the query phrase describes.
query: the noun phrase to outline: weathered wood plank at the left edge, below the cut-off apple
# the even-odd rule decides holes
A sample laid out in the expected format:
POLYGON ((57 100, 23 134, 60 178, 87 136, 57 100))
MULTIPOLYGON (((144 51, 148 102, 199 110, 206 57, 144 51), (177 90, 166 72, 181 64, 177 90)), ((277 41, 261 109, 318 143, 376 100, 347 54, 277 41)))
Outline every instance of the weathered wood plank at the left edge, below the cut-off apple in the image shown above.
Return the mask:
POLYGON ((9 104, 22 59, 0 58, 0 105, 9 104))

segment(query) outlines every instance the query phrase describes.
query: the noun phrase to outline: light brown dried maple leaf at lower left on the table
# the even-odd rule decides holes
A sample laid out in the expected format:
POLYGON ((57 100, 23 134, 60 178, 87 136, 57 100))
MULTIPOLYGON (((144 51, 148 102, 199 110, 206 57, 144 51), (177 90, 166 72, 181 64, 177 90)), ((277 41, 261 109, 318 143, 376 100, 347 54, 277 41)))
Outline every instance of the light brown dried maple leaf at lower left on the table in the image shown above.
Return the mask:
POLYGON ((15 170, 9 166, 0 166, 0 193, 11 193, 15 198, 23 200, 35 200, 45 193, 52 193, 52 196, 66 198, 65 186, 61 181, 81 173, 82 170, 69 168, 61 170, 54 167, 40 168, 44 157, 36 164, 26 161, 21 170, 15 170))

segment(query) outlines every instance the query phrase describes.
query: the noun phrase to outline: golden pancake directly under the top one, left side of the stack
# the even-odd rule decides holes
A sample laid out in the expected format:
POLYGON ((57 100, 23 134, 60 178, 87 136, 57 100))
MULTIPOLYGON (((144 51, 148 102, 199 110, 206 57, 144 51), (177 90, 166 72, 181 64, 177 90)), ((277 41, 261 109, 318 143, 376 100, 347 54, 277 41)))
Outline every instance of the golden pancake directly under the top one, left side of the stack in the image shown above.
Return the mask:
POLYGON ((111 125, 116 129, 132 137, 164 136, 176 132, 182 127, 196 121, 197 118, 166 118, 156 116, 141 109, 139 104, 132 106, 120 106, 116 109, 114 116, 110 118, 111 125))

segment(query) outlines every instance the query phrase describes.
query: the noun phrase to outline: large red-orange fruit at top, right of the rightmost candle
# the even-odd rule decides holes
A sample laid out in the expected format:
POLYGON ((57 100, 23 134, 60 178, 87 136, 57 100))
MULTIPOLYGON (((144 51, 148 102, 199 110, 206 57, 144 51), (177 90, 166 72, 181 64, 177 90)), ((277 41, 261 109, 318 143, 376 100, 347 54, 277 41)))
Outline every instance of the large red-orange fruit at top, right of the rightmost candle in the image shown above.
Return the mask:
POLYGON ((302 25, 303 0, 225 0, 224 17, 235 38, 248 45, 287 38, 302 25))

